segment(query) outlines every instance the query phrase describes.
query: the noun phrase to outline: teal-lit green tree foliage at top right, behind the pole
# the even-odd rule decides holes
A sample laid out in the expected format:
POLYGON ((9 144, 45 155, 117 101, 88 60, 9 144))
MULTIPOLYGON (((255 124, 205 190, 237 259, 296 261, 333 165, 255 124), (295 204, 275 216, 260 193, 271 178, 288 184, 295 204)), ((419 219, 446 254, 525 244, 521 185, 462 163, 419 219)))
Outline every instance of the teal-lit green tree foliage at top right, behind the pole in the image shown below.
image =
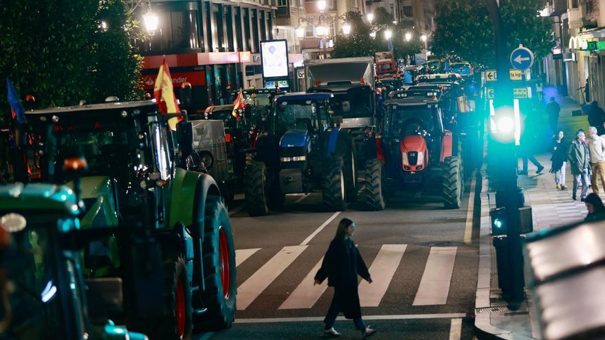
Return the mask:
MULTIPOLYGON (((519 44, 533 51, 536 58, 546 56, 553 47, 551 21, 537 16, 544 7, 540 0, 508 0, 500 2, 509 51, 519 44)), ((492 19, 483 5, 475 0, 438 0, 437 31, 433 52, 454 52, 472 63, 493 66, 494 29, 492 19)))

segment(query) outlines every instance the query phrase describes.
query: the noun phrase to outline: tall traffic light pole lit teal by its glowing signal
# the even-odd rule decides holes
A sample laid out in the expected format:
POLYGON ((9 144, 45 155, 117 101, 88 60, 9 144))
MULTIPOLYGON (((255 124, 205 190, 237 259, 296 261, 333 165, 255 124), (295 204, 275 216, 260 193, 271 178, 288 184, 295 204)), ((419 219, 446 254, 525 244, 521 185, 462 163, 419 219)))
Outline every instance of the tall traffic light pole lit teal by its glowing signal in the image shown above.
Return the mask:
MULTIPOLYGON (((496 47, 496 71, 497 80, 494 89, 494 111, 495 119, 503 115, 514 117, 513 89, 509 80, 509 51, 507 50, 507 32, 505 30, 502 15, 500 14, 500 3, 506 0, 485 0, 485 6, 494 24, 494 40, 496 47)), ((519 128, 516 126, 516 128, 519 128)), ((511 302, 518 302, 525 297, 523 287, 523 255, 520 238, 520 225, 518 219, 518 208, 520 207, 520 191, 517 187, 517 157, 514 133, 509 138, 494 139, 494 150, 498 157, 490 157, 492 168, 497 169, 496 183, 496 205, 504 207, 506 211, 506 234, 507 234, 507 264, 509 265, 510 286, 503 293, 511 302)), ((493 151, 492 151, 493 152, 493 151)), ((504 273, 499 273, 504 275, 504 273)))

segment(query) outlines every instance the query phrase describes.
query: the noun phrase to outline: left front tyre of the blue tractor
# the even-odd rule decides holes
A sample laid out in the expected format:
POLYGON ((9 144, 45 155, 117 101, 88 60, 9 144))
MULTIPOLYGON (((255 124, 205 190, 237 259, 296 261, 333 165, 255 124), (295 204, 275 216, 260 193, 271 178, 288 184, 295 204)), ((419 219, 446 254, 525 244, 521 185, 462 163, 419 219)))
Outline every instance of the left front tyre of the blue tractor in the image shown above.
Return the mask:
POLYGON ((261 161, 252 161, 244 170, 245 204, 250 216, 265 216, 269 214, 267 207, 267 167, 261 161))

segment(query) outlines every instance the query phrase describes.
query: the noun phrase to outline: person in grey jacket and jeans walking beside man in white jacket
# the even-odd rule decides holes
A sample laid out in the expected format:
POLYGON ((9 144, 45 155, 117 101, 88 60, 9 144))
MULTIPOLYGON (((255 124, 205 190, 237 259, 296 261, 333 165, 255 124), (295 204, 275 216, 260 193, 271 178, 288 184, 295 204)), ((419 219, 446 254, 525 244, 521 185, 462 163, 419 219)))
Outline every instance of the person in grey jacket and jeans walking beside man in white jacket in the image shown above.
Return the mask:
POLYGON ((580 194, 580 199, 582 202, 586 199, 588 178, 590 178, 591 175, 591 153, 588 151, 588 146, 584 143, 584 140, 586 140, 586 135, 584 135, 583 131, 578 131, 567 151, 567 159, 569 160, 569 166, 571 166, 571 174, 573 174, 571 199, 573 199, 573 201, 577 199, 577 187, 578 183, 581 181, 582 194, 580 194))

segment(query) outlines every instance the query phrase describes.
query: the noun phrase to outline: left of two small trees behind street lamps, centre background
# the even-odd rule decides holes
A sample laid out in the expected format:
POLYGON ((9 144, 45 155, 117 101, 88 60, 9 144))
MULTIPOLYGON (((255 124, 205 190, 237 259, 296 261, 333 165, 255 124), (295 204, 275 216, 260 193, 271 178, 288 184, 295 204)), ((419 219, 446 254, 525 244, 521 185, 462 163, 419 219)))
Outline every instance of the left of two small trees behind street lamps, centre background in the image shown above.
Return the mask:
POLYGON ((371 28, 359 12, 347 12, 347 23, 351 25, 351 34, 338 34, 330 53, 332 58, 374 56, 371 28))

